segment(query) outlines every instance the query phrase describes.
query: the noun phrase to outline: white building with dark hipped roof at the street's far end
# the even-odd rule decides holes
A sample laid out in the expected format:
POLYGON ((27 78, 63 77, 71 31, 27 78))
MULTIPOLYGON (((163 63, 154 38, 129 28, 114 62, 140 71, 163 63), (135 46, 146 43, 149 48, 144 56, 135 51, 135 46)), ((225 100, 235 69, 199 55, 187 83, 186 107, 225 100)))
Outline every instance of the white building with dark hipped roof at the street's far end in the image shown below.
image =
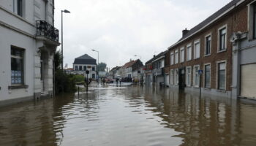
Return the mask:
POLYGON ((88 78, 96 79, 97 70, 96 59, 85 54, 75 58, 73 63, 74 73, 86 76, 86 70, 89 71, 88 78))

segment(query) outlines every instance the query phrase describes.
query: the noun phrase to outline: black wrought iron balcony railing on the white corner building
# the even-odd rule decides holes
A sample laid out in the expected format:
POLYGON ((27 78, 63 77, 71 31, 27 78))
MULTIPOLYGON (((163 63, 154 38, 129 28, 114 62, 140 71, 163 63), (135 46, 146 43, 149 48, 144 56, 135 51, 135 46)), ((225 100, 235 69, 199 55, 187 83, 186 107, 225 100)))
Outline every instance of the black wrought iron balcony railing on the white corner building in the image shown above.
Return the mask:
POLYGON ((37 36, 47 37, 59 42, 59 30, 44 20, 37 20, 37 36))

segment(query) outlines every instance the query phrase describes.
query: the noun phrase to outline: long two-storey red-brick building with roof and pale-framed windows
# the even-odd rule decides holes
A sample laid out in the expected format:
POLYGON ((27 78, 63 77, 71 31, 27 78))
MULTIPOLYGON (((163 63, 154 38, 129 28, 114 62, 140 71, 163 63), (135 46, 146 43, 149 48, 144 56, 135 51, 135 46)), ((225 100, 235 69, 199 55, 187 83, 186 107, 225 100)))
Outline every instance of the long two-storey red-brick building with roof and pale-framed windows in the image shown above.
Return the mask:
MULTIPOLYGON (((250 29, 248 24, 249 18, 256 19, 248 17, 250 12, 255 12, 252 9, 249 11, 253 2, 230 1, 194 28, 182 31, 182 38, 168 47, 165 74, 169 77, 166 77, 168 81, 165 82, 168 82, 171 88, 185 91, 199 91, 201 87, 202 93, 206 94, 238 96, 237 90, 240 89, 236 88, 234 94, 237 85, 233 84, 232 75, 240 70, 233 70, 236 62, 233 63, 232 38, 237 32, 246 35, 247 32, 255 30, 250 29), (202 75, 199 70, 203 70, 202 75)), ((255 26, 255 23, 252 26, 255 26)), ((255 53, 255 50, 252 52, 255 53)), ((251 63, 254 62, 252 60, 251 63)))

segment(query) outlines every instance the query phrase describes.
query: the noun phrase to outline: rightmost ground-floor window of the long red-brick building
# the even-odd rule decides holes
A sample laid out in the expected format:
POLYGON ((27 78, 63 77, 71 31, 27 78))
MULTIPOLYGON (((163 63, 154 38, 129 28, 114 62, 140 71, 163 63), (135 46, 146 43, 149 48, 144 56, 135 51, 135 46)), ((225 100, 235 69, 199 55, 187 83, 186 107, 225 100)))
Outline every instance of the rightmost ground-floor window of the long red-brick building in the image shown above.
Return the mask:
POLYGON ((218 89, 225 90, 226 82, 226 63, 222 62, 218 64, 218 89))

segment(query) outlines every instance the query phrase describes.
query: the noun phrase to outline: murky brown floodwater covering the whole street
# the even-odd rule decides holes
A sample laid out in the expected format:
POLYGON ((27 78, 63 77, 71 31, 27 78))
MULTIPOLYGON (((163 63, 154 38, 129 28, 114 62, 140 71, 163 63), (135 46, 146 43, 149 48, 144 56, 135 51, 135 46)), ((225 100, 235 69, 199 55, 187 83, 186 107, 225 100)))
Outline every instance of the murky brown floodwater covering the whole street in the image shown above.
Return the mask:
POLYGON ((256 145, 256 104, 99 88, 0 108, 0 145, 256 145))

